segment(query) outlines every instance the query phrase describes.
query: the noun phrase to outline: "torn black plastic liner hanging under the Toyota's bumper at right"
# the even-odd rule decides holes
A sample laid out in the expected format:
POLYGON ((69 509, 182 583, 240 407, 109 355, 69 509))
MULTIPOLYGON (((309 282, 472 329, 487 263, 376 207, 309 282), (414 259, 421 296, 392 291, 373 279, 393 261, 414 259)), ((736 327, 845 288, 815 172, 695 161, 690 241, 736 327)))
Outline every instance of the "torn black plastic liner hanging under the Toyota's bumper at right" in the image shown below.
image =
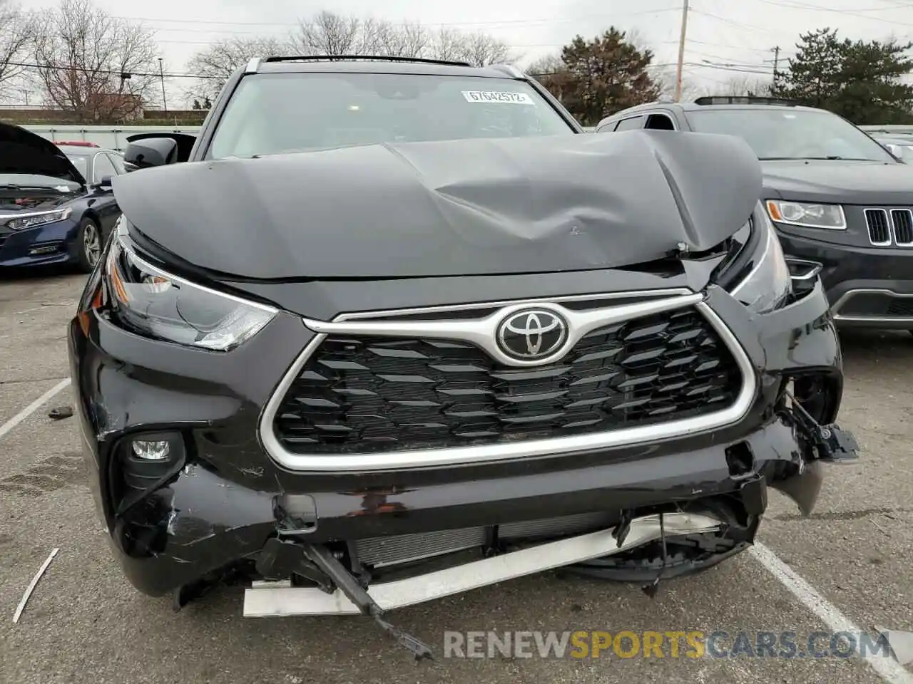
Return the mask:
MULTIPOLYGON (((695 510, 694 513, 705 513, 695 510)), ((726 523, 722 532, 688 534, 666 538, 666 567, 662 578, 674 579, 697 575, 724 560, 745 551, 753 542, 761 523, 758 516, 740 520, 728 505, 712 502, 706 513, 726 523)), ((651 542, 624 554, 595 558, 562 570, 572 575, 586 575, 612 582, 648 584, 656 579, 663 567, 663 545, 651 542)))

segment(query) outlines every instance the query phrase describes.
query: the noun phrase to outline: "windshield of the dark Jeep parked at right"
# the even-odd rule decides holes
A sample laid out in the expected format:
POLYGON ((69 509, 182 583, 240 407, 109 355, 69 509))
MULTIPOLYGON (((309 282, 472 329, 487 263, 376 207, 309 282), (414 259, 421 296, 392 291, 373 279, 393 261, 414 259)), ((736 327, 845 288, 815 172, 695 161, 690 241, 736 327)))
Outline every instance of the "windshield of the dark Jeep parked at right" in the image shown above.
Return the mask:
POLYGON ((845 159, 895 161, 887 150, 845 119, 807 109, 688 111, 691 130, 744 139, 763 160, 845 159))

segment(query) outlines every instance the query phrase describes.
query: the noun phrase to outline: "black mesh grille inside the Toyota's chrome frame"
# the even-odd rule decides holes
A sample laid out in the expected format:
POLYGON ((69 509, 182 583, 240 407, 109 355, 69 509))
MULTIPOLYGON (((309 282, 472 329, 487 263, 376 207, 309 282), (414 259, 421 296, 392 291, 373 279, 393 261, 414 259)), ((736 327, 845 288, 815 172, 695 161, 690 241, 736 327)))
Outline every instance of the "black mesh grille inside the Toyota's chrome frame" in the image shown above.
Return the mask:
POLYGON ((496 444, 698 416, 740 386, 729 349, 692 308, 595 330, 539 368, 501 366, 460 341, 328 337, 275 430, 303 453, 496 444))

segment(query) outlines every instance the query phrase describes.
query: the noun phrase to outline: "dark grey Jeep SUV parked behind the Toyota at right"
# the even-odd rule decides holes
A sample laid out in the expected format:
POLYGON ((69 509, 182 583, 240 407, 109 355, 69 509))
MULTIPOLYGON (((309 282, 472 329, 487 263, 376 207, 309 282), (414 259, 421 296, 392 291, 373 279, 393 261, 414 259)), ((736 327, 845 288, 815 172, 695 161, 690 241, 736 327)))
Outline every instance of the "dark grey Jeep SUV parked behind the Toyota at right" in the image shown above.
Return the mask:
POLYGON ((783 251, 822 264, 838 326, 913 331, 913 167, 846 119, 777 98, 645 104, 596 132, 636 129, 746 140, 783 251))

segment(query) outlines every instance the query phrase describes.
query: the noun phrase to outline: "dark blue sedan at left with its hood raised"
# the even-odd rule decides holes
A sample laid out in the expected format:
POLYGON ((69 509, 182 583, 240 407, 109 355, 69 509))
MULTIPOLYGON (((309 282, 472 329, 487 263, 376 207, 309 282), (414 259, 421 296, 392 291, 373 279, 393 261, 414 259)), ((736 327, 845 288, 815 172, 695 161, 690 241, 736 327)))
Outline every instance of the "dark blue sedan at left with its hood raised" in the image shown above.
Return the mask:
POLYGON ((0 268, 75 264, 89 272, 121 215, 112 150, 55 144, 0 123, 0 268))

